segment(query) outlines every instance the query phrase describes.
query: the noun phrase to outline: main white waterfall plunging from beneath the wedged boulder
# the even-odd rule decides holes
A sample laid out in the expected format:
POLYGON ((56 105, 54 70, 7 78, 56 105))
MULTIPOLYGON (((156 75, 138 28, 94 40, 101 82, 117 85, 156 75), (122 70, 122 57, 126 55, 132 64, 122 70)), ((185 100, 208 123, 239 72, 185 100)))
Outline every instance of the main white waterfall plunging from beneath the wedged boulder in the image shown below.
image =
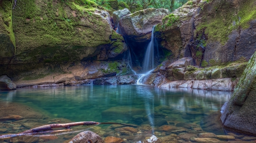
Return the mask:
POLYGON ((154 68, 154 31, 155 26, 152 28, 151 40, 147 45, 146 54, 143 60, 142 72, 146 73, 154 68))

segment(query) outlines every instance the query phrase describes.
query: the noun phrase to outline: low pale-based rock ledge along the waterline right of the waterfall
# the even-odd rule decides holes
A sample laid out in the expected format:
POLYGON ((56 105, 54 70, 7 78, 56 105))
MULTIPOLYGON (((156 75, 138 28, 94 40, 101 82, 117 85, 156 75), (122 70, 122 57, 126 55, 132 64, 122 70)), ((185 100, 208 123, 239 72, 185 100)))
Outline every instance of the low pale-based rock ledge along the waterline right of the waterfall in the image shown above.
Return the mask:
POLYGON ((226 66, 196 68, 191 57, 170 63, 166 60, 152 73, 142 78, 142 83, 160 88, 193 88, 231 91, 242 76, 247 63, 230 63, 226 66))

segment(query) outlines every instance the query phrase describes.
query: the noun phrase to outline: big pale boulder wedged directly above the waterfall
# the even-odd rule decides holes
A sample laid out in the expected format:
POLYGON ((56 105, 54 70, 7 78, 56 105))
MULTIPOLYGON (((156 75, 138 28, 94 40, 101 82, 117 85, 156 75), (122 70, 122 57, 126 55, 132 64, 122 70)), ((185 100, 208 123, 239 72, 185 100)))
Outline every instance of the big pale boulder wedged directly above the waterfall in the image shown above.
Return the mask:
POLYGON ((150 40, 152 27, 168 14, 170 11, 164 8, 147 8, 123 16, 119 27, 124 36, 131 37, 134 41, 147 41, 150 40))

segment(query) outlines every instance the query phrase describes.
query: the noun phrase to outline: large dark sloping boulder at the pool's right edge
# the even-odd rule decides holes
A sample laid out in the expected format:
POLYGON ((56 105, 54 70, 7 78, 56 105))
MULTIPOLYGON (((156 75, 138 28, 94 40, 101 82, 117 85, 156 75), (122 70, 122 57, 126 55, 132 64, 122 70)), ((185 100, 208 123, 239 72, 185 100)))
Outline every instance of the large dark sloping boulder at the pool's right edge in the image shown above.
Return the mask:
POLYGON ((232 98, 222 107, 221 121, 226 128, 256 135, 256 52, 253 54, 232 98))

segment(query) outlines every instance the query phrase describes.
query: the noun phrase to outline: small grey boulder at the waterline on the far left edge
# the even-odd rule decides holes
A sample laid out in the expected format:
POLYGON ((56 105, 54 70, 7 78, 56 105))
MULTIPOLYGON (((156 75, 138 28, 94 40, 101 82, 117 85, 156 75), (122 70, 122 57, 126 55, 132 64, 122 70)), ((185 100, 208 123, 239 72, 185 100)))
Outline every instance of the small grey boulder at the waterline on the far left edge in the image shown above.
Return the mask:
POLYGON ((7 75, 0 76, 0 90, 13 90, 16 89, 16 85, 7 75))

